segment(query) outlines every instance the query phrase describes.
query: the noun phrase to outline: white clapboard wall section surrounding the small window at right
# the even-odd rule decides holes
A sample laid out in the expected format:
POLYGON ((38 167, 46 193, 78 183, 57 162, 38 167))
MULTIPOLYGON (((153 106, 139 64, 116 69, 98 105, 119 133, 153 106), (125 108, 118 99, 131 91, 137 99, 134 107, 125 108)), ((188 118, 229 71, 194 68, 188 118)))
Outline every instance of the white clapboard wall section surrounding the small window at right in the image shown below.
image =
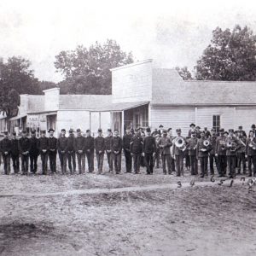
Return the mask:
POLYGON ((220 115, 220 126, 222 128, 236 128, 234 127, 235 108, 234 107, 198 107, 196 109, 195 123, 196 125, 207 127, 208 130, 212 128, 212 115, 220 115))

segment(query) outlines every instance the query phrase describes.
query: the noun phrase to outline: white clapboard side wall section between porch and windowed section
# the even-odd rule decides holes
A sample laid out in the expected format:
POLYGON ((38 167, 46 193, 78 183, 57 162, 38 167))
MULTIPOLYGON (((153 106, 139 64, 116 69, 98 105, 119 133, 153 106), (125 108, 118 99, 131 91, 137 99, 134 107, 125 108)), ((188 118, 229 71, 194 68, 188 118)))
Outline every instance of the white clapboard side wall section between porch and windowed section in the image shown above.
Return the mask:
POLYGON ((175 130, 181 128, 183 136, 186 137, 189 125, 195 123, 195 108, 152 107, 149 113, 153 129, 158 128, 159 125, 164 125, 166 129, 172 127, 174 135, 176 134, 175 130))

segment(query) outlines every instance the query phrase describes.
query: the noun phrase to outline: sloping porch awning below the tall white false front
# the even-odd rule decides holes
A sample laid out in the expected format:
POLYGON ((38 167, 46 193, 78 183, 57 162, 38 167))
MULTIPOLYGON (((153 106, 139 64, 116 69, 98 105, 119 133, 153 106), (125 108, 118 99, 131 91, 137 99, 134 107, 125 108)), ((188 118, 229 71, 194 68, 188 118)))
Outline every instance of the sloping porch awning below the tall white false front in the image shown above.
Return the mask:
POLYGON ((98 106, 97 108, 88 109, 90 112, 121 112, 131 108, 137 108, 143 105, 147 105, 149 102, 121 102, 110 103, 105 106, 98 106))

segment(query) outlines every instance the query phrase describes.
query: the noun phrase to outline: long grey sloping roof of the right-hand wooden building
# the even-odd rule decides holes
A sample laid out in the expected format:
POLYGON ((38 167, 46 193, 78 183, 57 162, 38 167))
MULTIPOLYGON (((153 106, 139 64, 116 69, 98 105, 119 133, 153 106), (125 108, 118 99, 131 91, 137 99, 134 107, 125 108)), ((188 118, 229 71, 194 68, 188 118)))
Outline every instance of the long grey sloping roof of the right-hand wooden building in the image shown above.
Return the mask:
POLYGON ((174 69, 153 70, 153 105, 256 105, 256 81, 184 81, 177 76, 174 69))

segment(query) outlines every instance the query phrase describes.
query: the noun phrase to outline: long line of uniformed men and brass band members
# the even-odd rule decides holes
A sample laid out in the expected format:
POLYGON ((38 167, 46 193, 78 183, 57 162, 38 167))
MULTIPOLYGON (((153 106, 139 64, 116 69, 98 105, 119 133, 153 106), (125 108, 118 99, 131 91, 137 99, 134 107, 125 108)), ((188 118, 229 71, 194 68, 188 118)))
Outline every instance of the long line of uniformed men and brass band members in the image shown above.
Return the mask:
POLYGON ((49 129, 49 137, 46 131, 41 132, 39 138, 36 131, 27 137, 26 131, 22 131, 20 139, 16 133, 10 139, 8 131, 4 132, 4 138, 0 142, 0 150, 3 158, 5 174, 10 173, 10 160, 13 163, 15 173, 28 174, 29 161, 30 172, 38 172, 38 156, 41 156, 42 174, 48 173, 48 160, 50 173, 56 173, 56 157, 59 155, 61 173, 67 173, 67 166, 71 174, 85 173, 85 159, 88 162, 88 172, 94 172, 94 158, 96 154, 97 172, 102 174, 104 155, 107 155, 108 172, 119 174, 121 172, 122 152, 125 155, 125 172, 140 173, 140 167, 146 167, 148 175, 153 174, 154 167, 161 167, 164 174, 176 172, 176 176, 183 175, 184 162, 191 175, 198 175, 200 163, 201 177, 208 176, 208 161, 210 172, 214 175, 214 162, 219 177, 224 177, 229 172, 229 177, 236 174, 248 174, 256 176, 256 131, 252 125, 247 137, 245 131, 239 126, 237 131, 230 129, 224 131, 205 127, 201 130, 195 124, 190 125, 188 137, 182 136, 181 129, 172 135, 172 128, 164 129, 163 125, 153 132, 150 128, 145 131, 142 128, 125 129, 125 135, 119 137, 119 131, 108 129, 107 137, 102 136, 102 129, 98 129, 97 137, 92 137, 90 130, 82 135, 77 129, 77 136, 71 129, 66 136, 66 130, 61 130, 59 138, 54 137, 55 131, 49 129), (246 164, 247 163, 247 164, 246 164), (248 166, 248 173, 247 173, 248 166), (253 172, 252 172, 253 166, 253 172), (237 169, 237 172, 236 172, 237 169))

